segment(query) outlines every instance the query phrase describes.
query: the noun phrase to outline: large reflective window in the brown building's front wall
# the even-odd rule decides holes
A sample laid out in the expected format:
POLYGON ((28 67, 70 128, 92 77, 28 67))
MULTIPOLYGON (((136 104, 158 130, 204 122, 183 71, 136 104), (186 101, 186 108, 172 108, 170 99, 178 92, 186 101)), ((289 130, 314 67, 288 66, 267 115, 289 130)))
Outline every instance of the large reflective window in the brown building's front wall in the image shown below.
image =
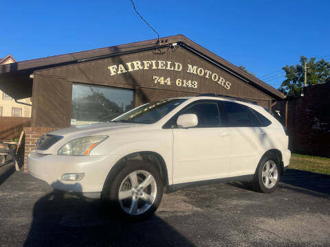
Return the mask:
POLYGON ((134 92, 103 86, 72 86, 72 125, 110 121, 134 108, 134 92))

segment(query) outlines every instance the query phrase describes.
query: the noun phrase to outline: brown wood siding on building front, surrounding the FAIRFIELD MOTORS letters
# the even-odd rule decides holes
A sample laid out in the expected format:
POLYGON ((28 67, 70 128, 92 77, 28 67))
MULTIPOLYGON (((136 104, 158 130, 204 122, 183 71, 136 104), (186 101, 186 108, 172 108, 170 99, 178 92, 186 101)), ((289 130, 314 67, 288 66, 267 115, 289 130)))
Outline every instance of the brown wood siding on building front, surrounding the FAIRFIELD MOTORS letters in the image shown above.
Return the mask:
POLYGON ((94 84, 111 86, 135 91, 135 106, 155 99, 198 95, 200 93, 218 93, 236 97, 245 97, 257 102, 259 105, 270 108, 272 97, 259 91, 249 83, 241 80, 219 67, 210 64, 184 48, 163 49, 164 54, 155 54, 154 51, 143 51, 135 54, 117 56, 80 62, 53 69, 34 72, 32 126, 65 127, 70 125, 72 84, 94 84), (126 64, 133 61, 162 60, 172 63, 179 62, 181 71, 168 69, 139 69, 127 73, 111 75, 108 67, 126 64), (188 64, 201 67, 204 70, 217 73, 230 82, 230 89, 214 82, 205 76, 188 73, 188 64), (155 83, 153 76, 170 78, 170 85, 155 83), (196 89, 192 87, 177 86, 175 81, 192 80, 198 83, 196 89))

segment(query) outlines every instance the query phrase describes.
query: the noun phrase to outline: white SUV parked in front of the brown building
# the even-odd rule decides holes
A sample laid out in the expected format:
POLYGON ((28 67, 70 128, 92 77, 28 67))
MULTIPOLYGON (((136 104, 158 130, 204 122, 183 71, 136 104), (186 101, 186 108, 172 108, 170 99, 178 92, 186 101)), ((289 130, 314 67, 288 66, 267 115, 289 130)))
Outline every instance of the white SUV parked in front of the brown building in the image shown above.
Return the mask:
POLYGON ((54 189, 110 202, 122 215, 153 214, 163 191, 252 181, 270 193, 289 165, 283 126, 243 99, 200 95, 144 104, 110 122, 45 134, 28 171, 54 189))

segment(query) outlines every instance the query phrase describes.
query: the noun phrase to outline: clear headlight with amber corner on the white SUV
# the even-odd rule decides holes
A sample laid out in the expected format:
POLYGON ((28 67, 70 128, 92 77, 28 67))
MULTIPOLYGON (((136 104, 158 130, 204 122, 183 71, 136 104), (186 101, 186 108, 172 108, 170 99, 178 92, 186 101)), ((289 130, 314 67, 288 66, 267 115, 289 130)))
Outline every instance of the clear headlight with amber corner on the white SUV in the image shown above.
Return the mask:
POLYGON ((89 155, 98 143, 107 139, 107 136, 81 137, 69 141, 57 152, 59 155, 89 155))

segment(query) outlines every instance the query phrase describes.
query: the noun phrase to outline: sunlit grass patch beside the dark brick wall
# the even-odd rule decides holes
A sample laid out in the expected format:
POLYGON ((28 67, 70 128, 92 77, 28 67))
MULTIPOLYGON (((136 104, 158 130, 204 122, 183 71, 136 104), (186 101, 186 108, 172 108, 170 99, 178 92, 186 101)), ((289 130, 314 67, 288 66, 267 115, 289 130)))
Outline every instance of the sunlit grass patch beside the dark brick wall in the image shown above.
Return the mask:
POLYGON ((292 154, 289 168, 330 175, 330 158, 292 154))

